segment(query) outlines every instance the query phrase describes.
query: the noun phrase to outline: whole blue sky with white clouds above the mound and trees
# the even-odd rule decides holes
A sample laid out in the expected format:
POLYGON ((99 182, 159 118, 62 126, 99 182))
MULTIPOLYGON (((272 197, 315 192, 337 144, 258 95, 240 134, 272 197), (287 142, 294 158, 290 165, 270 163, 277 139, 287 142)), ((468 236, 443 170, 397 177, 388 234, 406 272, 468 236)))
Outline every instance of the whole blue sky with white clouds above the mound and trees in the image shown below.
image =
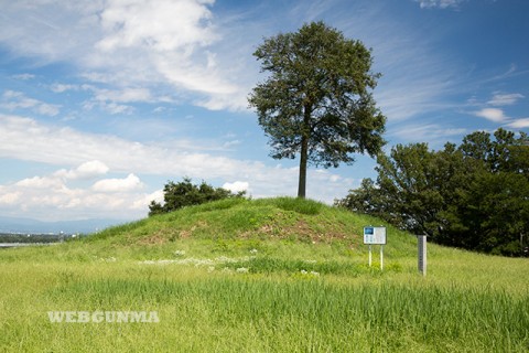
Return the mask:
MULTIPOLYGON (((0 1, 0 216, 144 217, 187 175, 295 195, 247 108, 263 38, 323 20, 373 49, 387 150, 529 131, 527 0, 0 1)), ((311 168, 343 197, 375 162, 311 168)))

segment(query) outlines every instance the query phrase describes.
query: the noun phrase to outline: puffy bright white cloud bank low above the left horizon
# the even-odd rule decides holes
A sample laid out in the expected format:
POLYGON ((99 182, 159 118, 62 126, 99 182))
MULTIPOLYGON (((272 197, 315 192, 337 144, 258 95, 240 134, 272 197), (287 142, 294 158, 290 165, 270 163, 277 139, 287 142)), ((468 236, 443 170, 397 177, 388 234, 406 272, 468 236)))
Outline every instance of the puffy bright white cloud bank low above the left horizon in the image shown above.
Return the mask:
POLYGON ((125 179, 100 180, 93 188, 73 186, 71 181, 60 170, 0 185, 0 210, 12 216, 28 213, 43 221, 138 218, 147 215, 150 201, 161 193, 142 192, 143 184, 132 173, 125 179))

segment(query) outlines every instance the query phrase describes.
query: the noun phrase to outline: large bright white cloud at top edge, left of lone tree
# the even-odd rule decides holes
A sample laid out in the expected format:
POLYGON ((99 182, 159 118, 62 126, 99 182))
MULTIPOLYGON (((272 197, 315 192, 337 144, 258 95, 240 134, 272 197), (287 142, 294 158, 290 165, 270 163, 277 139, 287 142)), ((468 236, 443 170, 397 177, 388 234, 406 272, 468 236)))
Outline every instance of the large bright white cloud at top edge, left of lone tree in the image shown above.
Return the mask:
MULTIPOLYGON (((119 69, 107 81, 173 85, 176 93, 192 92, 191 103, 208 109, 246 108, 234 96, 246 92, 219 67, 212 44, 220 40, 208 0, 111 1, 102 10, 102 38, 95 43, 99 56, 112 54, 101 65, 119 69), (130 53, 134 53, 130 55, 130 53), (139 69, 141 67, 141 69, 139 69)), ((97 57, 96 62, 100 58, 97 57)), ((223 67, 226 68, 226 67, 223 67)), ((145 97, 147 98, 147 97, 145 97)))

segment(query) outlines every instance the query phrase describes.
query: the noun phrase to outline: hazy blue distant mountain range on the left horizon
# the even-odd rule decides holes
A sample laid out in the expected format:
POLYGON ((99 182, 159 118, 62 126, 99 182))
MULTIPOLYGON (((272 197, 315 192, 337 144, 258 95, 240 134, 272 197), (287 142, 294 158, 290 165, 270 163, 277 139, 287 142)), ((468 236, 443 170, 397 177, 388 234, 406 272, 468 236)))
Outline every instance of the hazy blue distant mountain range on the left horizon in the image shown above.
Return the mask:
POLYGON ((31 234, 89 234, 112 225, 131 222, 131 220, 82 220, 62 222, 42 222, 31 218, 0 216, 0 233, 31 233, 31 234))

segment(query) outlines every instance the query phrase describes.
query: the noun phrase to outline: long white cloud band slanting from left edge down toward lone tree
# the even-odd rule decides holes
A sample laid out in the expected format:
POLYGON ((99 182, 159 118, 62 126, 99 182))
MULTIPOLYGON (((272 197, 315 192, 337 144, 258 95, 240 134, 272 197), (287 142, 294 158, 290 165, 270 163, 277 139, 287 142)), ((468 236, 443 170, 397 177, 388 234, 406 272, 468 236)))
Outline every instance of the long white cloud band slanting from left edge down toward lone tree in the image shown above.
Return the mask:
POLYGON ((50 164, 79 165, 97 160, 118 172, 203 178, 231 176, 236 171, 262 168, 259 162, 233 160, 164 146, 128 141, 72 128, 40 124, 30 118, 0 115, 0 157, 50 164))

